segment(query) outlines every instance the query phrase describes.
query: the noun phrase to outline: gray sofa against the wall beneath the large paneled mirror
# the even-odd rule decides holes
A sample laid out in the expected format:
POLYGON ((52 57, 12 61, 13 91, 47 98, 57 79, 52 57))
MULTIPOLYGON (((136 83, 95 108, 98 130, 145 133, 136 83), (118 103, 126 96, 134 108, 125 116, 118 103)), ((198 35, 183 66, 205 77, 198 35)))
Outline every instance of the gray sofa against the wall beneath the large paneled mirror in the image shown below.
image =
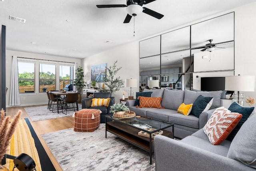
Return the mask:
MULTIPOLYGON (((222 91, 176 91, 168 89, 144 89, 145 91, 152 91, 152 97, 162 97, 161 105, 164 109, 157 108, 137 108, 134 106, 135 100, 128 100, 126 105, 131 111, 134 111, 136 115, 148 116, 154 119, 160 119, 174 123, 174 137, 184 138, 192 133, 198 131, 206 124, 211 114, 217 107, 222 105, 220 99, 222 91), (194 115, 183 115, 178 113, 178 107, 180 104, 194 103, 199 95, 214 97, 211 108, 200 114, 199 117, 194 115)), ((169 131, 172 131, 171 129, 169 131)))

